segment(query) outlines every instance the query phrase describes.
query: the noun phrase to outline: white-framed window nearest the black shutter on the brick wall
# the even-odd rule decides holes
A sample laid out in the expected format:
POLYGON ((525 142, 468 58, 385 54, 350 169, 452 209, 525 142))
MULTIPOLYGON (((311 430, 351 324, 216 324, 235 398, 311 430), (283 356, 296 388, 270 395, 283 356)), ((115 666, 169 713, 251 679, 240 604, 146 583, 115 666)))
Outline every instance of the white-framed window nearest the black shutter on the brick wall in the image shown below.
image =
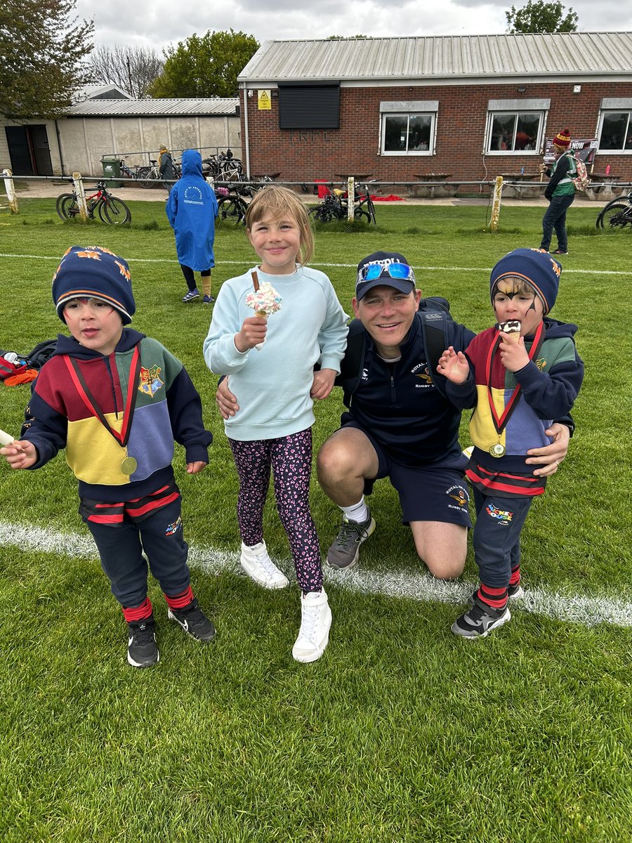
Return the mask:
POLYGON ((438 102, 383 102, 383 155, 432 155, 438 102))

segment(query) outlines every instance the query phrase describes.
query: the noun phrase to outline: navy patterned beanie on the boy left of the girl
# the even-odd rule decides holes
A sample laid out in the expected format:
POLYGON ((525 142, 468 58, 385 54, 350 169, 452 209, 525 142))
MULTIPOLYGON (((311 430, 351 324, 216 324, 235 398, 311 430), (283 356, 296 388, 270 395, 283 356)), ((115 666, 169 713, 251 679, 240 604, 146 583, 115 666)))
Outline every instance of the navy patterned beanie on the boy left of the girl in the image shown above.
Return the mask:
POLYGON ((129 325, 136 312, 130 267, 103 246, 71 246, 53 276, 52 297, 62 322, 64 307, 72 298, 98 298, 110 304, 121 314, 123 325, 129 325))

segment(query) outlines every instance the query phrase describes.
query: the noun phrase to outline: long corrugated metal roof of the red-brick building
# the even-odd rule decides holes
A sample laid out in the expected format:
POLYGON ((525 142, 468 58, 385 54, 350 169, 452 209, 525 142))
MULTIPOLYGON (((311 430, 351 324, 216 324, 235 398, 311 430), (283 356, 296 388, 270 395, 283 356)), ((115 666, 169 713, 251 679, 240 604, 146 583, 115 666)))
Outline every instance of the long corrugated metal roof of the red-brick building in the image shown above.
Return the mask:
POLYGON ((265 41, 246 83, 632 73, 632 32, 265 41))

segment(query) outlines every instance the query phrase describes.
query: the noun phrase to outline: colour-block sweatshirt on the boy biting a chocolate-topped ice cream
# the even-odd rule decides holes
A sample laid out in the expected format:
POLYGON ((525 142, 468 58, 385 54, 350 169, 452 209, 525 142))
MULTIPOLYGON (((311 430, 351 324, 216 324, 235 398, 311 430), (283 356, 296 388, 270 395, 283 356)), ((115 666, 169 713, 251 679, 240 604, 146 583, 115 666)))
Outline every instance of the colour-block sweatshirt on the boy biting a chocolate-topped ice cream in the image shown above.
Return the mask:
MULTIPOLYGON (((544 328, 544 342, 537 359, 517 372, 510 372, 502 365, 500 354, 493 357, 490 393, 497 417, 502 416, 514 389, 520 384, 516 408, 500 435, 496 432, 490 409, 486 365, 490 348, 498 336, 498 326, 475 336, 466 348, 465 355, 470 363, 469 379, 465 384, 448 383, 447 394, 463 409, 474 407, 469 422, 469 433, 474 443, 470 467, 482 466, 490 475, 507 473, 533 477, 533 466, 525 463, 528 449, 549 445, 550 439, 544 431, 555 419, 562 419, 570 413, 584 378, 584 364, 573 340, 577 326, 546 316, 544 328), (465 389, 468 386, 469 389, 465 389), (506 454, 501 458, 490 454, 490 447, 495 443, 501 443, 506 448, 506 454)), ((533 336, 525 337, 528 352, 532 343, 533 336)), ((477 480, 470 471, 468 476, 474 482, 477 480)), ((524 486, 522 488, 525 489, 524 486)), ((544 486, 538 488, 539 491, 534 493, 544 491, 544 486)), ((517 488, 513 491, 517 492, 517 488)))

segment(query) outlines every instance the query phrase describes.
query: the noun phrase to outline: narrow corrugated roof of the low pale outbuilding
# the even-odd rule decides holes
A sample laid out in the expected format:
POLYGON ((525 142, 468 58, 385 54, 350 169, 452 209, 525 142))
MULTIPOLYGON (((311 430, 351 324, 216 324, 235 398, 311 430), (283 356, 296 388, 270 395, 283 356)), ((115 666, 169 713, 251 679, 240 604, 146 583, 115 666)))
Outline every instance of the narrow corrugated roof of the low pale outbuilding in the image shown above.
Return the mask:
POLYGON ((87 99, 71 105, 67 117, 137 117, 164 115, 229 115, 238 108, 237 97, 215 99, 87 99))

